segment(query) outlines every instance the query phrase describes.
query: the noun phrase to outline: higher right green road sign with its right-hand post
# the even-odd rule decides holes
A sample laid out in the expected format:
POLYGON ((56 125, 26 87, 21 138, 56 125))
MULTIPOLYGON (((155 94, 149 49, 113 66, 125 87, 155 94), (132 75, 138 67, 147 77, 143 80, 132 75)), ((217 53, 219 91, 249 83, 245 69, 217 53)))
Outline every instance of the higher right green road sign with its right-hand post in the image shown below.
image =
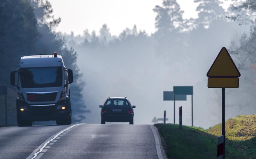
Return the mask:
POLYGON ((193 126, 193 86, 173 86, 173 92, 174 92, 174 96, 191 95, 191 109, 192 109, 191 116, 192 116, 192 126, 193 126))

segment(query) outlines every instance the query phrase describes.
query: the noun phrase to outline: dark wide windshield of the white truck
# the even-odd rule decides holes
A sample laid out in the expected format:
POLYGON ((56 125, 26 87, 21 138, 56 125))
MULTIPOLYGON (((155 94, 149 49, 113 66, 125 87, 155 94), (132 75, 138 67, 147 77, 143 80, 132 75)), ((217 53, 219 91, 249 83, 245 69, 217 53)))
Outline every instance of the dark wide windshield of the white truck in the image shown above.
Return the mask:
POLYGON ((21 87, 59 87, 62 85, 62 67, 33 67, 20 69, 21 87))

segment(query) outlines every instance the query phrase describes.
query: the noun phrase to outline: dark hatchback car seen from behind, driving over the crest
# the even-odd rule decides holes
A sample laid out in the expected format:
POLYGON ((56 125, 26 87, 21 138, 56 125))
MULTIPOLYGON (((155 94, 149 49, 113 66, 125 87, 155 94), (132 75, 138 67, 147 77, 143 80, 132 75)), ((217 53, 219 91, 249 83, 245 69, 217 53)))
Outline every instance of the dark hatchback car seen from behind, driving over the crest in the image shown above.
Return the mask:
POLYGON ((108 97, 101 109, 101 124, 105 122, 129 122, 133 124, 133 108, 126 97, 108 97))

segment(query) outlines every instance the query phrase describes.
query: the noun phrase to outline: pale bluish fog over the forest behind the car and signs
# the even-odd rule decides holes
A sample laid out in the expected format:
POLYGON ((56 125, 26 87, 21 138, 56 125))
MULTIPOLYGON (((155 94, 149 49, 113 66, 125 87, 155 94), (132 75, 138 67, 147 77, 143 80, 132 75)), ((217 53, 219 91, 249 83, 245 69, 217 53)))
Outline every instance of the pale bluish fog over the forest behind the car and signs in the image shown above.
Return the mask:
MULTIPOLYGON (((177 3, 171 2, 182 15, 177 3)), ((164 110, 169 118, 167 123, 173 123, 174 103, 163 101, 163 91, 172 91, 173 86, 194 86, 194 126, 208 128, 221 123, 221 89, 207 88, 206 73, 221 48, 234 49, 232 44, 238 43, 250 27, 228 20, 228 13, 218 1, 212 4, 217 8, 214 13, 205 15, 209 7, 199 12, 198 19, 175 15, 178 18, 172 19, 170 27, 164 17, 168 4, 156 6, 154 11, 161 17, 152 17, 156 18, 158 31, 151 35, 137 31, 135 25, 124 29, 118 37, 111 36, 106 24, 99 35, 88 30, 78 36, 66 34, 67 44, 78 53, 77 65, 86 81, 83 96, 91 113, 86 114, 84 122, 100 123, 98 105, 104 104, 107 97, 127 97, 136 105, 134 124, 152 124, 154 116, 163 118, 164 110)), ((232 58, 239 63, 235 55, 232 58)), ((241 71, 238 89, 226 89, 226 119, 256 113, 255 100, 244 98, 252 86, 246 82, 245 73, 241 71)), ((179 106, 183 107, 183 124, 191 125, 191 95, 187 101, 176 101, 176 123, 179 106)))

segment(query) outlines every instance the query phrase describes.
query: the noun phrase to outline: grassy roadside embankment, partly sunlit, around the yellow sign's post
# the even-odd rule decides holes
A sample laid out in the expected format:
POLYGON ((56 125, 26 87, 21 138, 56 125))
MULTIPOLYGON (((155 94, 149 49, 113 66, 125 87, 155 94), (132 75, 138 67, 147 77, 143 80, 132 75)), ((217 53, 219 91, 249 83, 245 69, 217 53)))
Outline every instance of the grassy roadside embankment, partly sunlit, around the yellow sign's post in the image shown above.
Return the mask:
MULTIPOLYGON (((216 158, 221 124, 207 130, 174 124, 155 124, 168 158, 216 158)), ((226 158, 256 159, 256 114, 240 115, 225 123, 226 158)))

